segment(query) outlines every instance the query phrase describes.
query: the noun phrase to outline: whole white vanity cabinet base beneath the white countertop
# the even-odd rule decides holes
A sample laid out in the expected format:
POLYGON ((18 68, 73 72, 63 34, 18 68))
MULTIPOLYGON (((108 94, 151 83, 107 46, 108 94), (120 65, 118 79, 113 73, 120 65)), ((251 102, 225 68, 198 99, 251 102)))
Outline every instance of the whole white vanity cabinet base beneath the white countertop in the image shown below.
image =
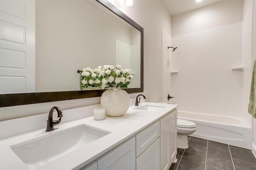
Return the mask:
POLYGON ((177 154, 177 109, 82 170, 168 170, 177 154))

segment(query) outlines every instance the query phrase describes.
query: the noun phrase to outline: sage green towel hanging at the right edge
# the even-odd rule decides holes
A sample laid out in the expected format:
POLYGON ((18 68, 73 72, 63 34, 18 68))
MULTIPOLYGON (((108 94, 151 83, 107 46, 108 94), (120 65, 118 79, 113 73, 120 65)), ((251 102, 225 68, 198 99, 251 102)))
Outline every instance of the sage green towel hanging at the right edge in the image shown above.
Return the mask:
POLYGON ((248 112, 256 119, 256 60, 253 65, 253 73, 251 78, 251 92, 248 112))

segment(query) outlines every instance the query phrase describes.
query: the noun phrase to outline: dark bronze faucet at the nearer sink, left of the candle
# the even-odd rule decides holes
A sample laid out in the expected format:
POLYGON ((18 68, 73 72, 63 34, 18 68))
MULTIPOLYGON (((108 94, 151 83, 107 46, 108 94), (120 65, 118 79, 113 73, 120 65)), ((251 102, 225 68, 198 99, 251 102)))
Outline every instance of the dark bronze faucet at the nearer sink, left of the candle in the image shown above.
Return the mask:
POLYGON ((61 122, 61 117, 62 116, 62 111, 59 107, 55 106, 53 108, 51 108, 49 115, 48 115, 48 120, 47 120, 47 126, 46 126, 46 130, 47 132, 49 131, 53 131, 54 130, 54 126, 60 124, 61 122), (53 120, 53 111, 56 110, 57 114, 58 114, 58 118, 59 120, 53 120))

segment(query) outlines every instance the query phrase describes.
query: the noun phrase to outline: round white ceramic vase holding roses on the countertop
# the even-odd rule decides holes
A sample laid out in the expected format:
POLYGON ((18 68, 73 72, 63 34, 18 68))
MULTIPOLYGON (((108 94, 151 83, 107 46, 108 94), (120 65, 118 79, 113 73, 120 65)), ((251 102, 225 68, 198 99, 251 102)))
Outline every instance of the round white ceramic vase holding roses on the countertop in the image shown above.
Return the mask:
POLYGON ((120 88, 112 87, 101 96, 101 107, 105 108, 106 114, 117 117, 124 115, 130 106, 128 93, 120 88))

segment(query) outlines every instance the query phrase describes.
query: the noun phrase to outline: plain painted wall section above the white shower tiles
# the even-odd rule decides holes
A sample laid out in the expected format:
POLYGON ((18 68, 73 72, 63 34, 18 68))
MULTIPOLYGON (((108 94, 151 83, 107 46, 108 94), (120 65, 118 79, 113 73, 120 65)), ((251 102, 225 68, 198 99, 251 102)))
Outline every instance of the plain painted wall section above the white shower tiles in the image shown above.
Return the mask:
POLYGON ((221 1, 172 16, 172 36, 242 22, 243 1, 221 1))

